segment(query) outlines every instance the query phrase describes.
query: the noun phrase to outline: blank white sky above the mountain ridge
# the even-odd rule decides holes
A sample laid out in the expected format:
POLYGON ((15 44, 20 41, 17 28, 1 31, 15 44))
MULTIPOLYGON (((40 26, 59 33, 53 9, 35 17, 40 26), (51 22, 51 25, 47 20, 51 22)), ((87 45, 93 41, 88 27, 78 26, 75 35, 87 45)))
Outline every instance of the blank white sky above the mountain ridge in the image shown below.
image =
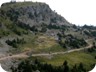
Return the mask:
MULTIPOLYGON (((0 0, 0 5, 11 0, 0 0)), ((16 0, 24 1, 24 0, 16 0)), ((52 10, 63 16, 67 21, 76 25, 96 26, 96 0, 26 0, 45 2, 52 10)))

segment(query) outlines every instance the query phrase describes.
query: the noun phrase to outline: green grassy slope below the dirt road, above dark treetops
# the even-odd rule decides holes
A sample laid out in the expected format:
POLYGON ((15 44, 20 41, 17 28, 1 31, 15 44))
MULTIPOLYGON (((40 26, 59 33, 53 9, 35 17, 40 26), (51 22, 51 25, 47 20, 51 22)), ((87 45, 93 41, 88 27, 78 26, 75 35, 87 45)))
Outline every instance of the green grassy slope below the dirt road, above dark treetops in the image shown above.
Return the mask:
POLYGON ((94 58, 94 54, 85 53, 85 52, 72 52, 64 55, 55 55, 50 57, 38 57, 40 61, 47 62, 48 64, 52 64, 54 66, 62 65, 65 60, 68 61, 69 66, 73 66, 75 64, 79 64, 82 62, 88 70, 91 70, 90 65, 96 63, 96 59, 94 58))

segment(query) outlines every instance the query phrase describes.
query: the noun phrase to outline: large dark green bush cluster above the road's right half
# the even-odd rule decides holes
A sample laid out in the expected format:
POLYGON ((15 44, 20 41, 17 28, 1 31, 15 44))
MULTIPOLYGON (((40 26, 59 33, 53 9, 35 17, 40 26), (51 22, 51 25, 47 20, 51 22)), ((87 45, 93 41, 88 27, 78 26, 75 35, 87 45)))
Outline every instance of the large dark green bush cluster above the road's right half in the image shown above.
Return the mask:
POLYGON ((67 35, 63 37, 61 34, 58 34, 58 39, 58 43, 64 48, 80 48, 81 46, 87 45, 84 39, 78 39, 73 37, 72 35, 67 35), (62 39, 65 39, 64 42, 62 42, 62 39))

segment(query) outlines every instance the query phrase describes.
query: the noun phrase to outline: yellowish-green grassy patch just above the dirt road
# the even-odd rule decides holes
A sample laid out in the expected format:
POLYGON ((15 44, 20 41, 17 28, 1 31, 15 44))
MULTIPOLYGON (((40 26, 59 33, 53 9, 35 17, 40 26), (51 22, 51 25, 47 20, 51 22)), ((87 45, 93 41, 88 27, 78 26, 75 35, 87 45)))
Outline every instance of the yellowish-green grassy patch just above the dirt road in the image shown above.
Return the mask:
POLYGON ((49 52, 58 52, 65 51, 66 49, 62 48, 53 37, 48 37, 42 34, 28 34, 23 35, 22 38, 26 41, 24 45, 18 45, 21 51, 32 51, 32 53, 49 53, 49 52))

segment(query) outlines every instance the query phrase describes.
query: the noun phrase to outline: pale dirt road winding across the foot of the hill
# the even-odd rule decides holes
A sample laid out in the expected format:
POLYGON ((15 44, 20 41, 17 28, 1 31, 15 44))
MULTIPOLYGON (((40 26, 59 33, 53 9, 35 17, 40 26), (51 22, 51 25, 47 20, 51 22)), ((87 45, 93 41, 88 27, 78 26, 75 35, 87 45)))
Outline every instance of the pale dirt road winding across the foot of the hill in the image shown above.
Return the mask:
MULTIPOLYGON (((65 52, 40 53, 40 54, 32 54, 31 56, 36 57, 36 56, 49 56, 49 55, 57 55, 57 54, 66 54, 66 53, 71 53, 71 52, 74 52, 74 51, 80 51, 80 50, 88 49, 88 48, 91 48, 91 47, 92 47, 92 44, 89 44, 86 47, 79 48, 79 49, 72 49, 72 50, 68 50, 68 51, 65 51, 65 52)), ((6 60, 6 59, 12 59, 12 58, 27 58, 27 57, 29 57, 29 56, 26 53, 21 53, 21 54, 16 54, 16 55, 12 55, 12 56, 2 57, 2 58, 0 58, 0 61, 6 60)))

